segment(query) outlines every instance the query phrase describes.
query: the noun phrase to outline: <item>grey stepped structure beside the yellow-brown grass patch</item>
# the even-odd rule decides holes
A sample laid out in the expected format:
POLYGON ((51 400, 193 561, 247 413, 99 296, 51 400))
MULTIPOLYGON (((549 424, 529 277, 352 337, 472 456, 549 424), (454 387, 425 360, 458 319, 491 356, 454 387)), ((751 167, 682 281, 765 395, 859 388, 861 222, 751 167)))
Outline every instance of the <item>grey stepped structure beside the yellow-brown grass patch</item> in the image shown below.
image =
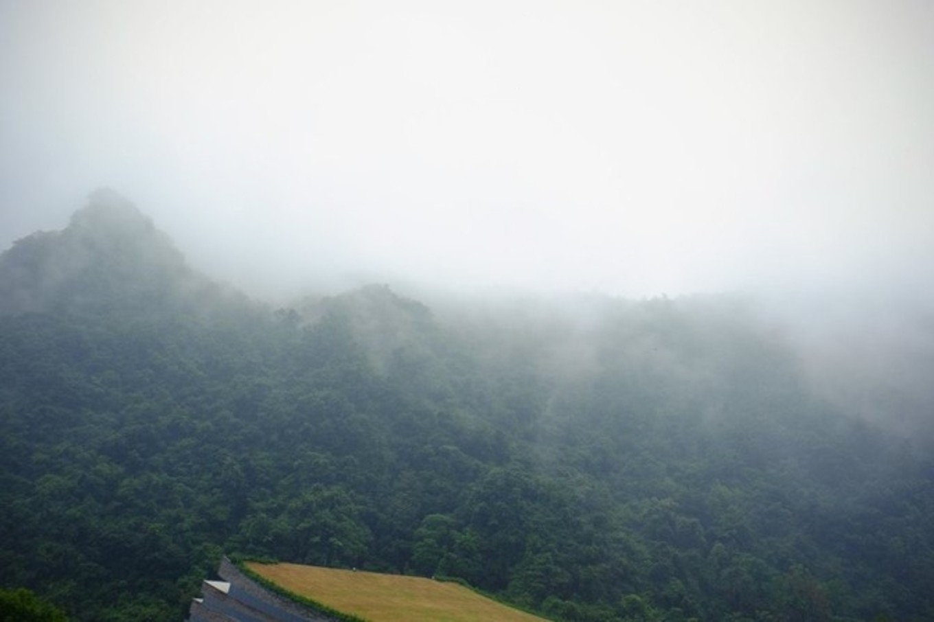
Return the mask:
POLYGON ((336 622, 262 587, 228 558, 218 574, 223 581, 205 581, 202 598, 191 602, 189 622, 336 622))

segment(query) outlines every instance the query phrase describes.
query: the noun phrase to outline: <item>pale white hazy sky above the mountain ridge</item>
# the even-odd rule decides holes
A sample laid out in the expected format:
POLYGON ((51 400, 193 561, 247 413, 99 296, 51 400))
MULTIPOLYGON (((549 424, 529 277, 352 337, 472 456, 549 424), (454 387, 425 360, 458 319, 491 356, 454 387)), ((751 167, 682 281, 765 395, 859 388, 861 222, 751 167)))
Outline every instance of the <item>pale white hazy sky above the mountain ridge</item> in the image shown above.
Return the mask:
POLYGON ((253 290, 930 289, 934 3, 0 0, 0 247, 112 187, 253 290))

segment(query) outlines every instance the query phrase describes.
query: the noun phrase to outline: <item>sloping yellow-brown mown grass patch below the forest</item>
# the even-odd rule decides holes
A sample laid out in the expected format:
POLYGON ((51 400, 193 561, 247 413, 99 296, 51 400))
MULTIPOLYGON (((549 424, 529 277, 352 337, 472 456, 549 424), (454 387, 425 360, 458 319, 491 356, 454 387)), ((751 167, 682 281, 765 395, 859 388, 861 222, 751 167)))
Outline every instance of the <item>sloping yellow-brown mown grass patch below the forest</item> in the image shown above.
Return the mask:
POLYGON ((248 562, 281 587, 370 622, 543 622, 466 587, 415 576, 248 562))

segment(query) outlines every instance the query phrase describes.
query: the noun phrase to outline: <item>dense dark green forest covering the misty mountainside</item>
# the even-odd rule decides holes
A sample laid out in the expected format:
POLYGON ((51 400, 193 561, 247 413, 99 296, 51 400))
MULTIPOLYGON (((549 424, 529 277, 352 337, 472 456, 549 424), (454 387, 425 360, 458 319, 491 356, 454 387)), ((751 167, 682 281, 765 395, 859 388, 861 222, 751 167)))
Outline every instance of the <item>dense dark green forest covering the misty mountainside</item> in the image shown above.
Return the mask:
POLYGON ((920 430, 737 296, 273 308, 106 192, 0 259, 0 588, 71 620, 180 621, 222 554, 567 622, 931 620, 920 430))

